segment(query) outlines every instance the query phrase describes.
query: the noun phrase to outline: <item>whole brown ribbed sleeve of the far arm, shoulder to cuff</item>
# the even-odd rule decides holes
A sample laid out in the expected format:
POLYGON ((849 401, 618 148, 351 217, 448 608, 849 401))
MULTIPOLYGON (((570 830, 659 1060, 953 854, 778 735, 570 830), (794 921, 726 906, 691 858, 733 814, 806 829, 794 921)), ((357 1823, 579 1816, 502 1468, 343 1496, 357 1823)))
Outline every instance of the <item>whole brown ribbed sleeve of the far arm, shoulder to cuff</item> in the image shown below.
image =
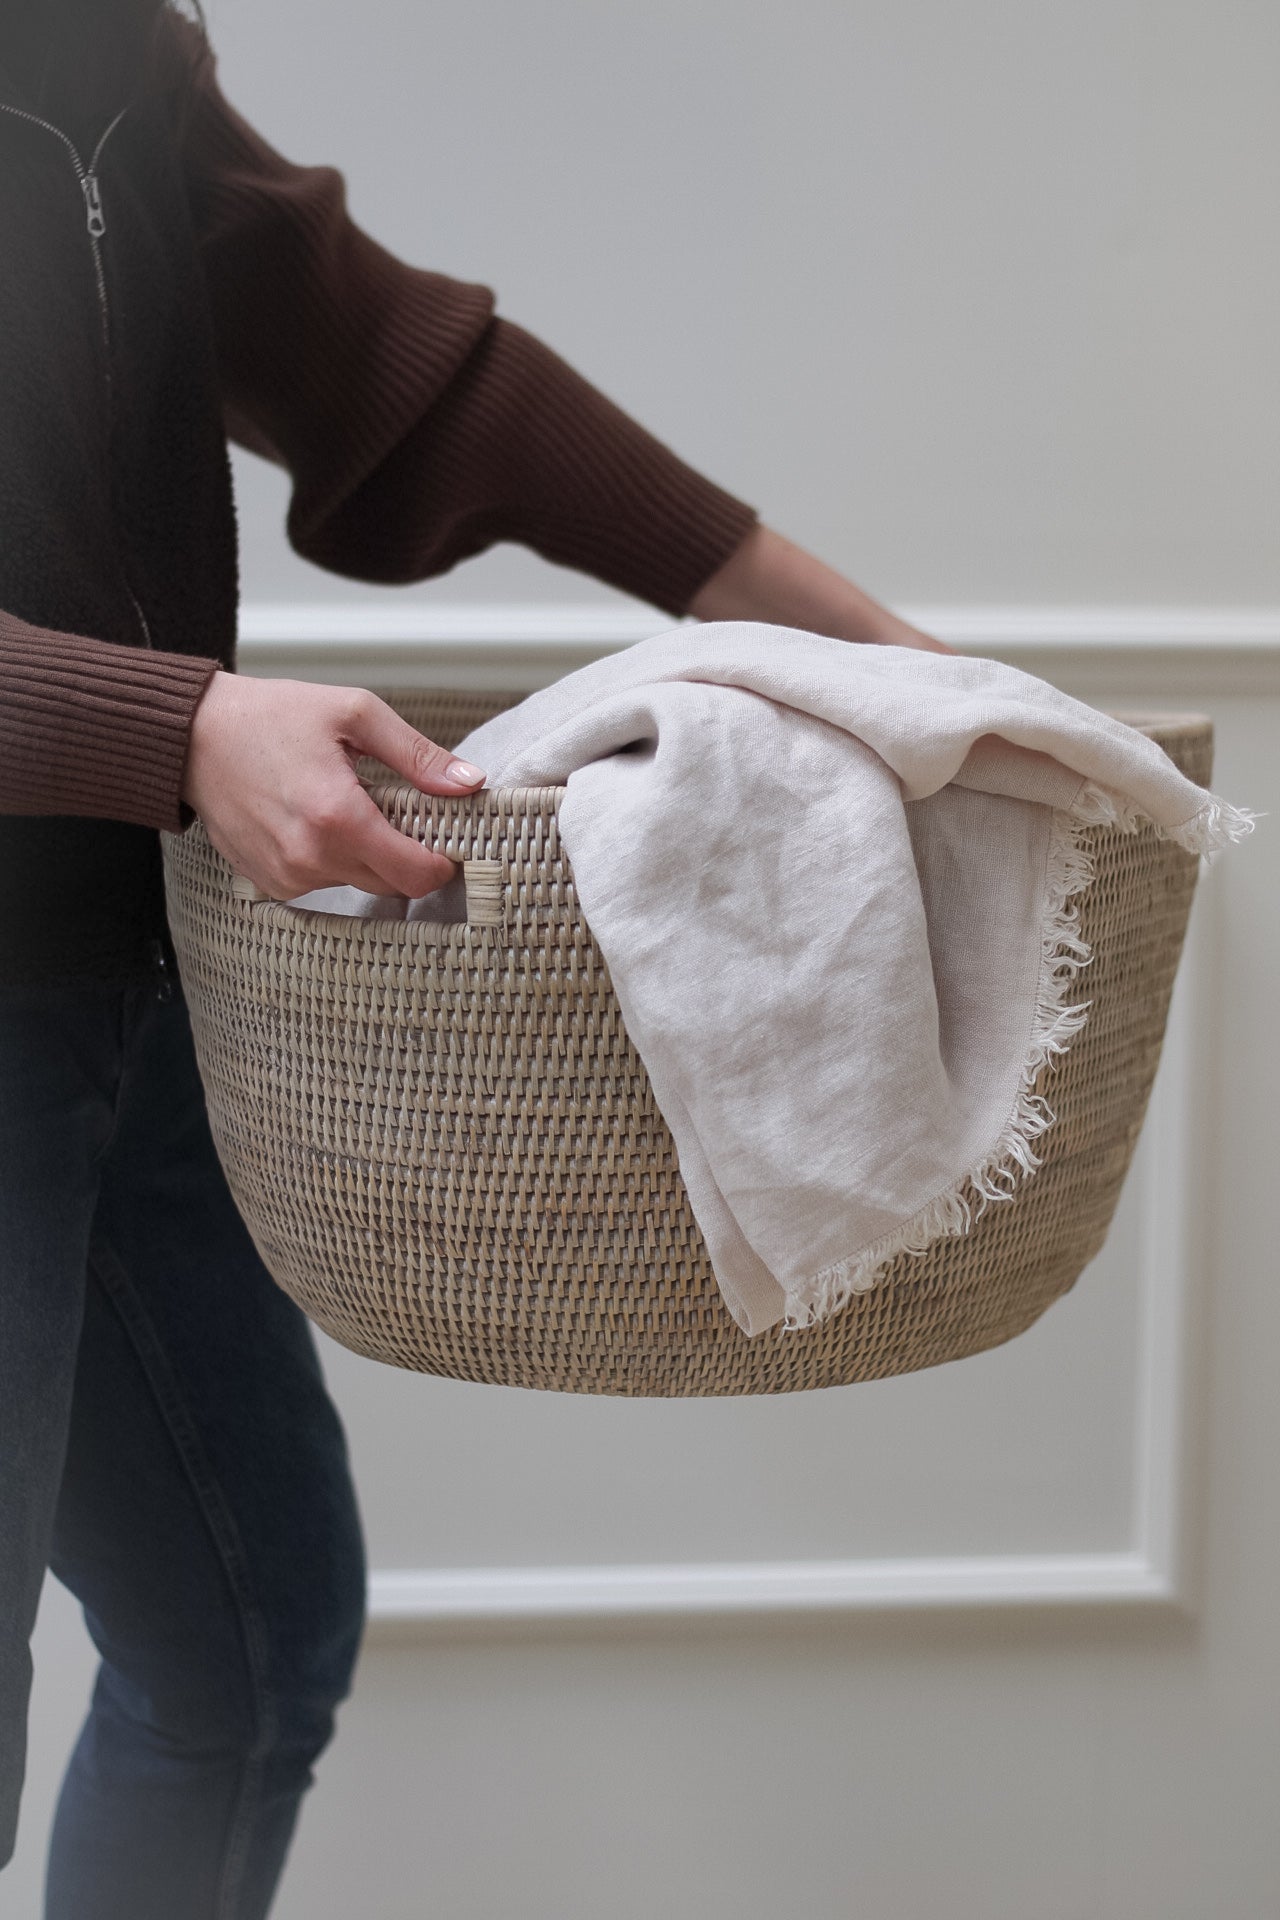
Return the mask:
POLYGON ((489 288, 378 246, 342 175, 278 154, 213 56, 192 58, 182 156, 226 422, 290 472, 294 547, 390 586, 516 541, 683 614, 754 509, 495 315, 489 288))

